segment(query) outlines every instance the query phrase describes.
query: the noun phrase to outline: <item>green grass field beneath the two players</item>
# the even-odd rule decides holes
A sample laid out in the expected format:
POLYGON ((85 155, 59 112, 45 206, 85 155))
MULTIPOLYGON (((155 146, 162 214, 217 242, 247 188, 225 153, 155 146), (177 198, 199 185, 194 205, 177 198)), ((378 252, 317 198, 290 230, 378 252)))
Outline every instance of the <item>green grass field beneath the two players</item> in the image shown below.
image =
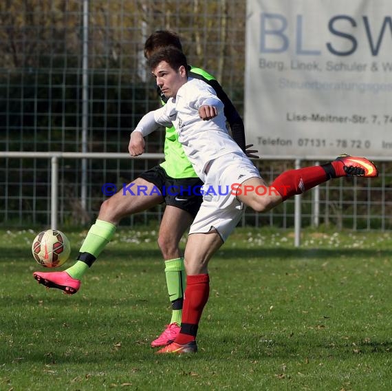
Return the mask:
MULTIPOLYGON (((85 232, 65 232, 74 257, 85 232)), ((295 249, 237 229, 186 357, 149 346, 170 319, 156 232, 120 229, 71 297, 32 278, 35 235, 0 230, 1 391, 392 390, 392 233, 304 231, 295 249)))

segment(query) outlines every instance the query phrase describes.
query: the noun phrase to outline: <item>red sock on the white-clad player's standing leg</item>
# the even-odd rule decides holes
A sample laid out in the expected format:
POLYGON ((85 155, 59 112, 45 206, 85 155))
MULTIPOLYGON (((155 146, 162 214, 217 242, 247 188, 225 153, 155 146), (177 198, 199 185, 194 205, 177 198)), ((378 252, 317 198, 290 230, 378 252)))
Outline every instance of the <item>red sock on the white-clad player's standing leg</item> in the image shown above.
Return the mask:
POLYGON ((200 318, 210 294, 210 277, 208 274, 188 275, 182 307, 181 330, 175 339, 177 344, 188 344, 197 335, 200 318))

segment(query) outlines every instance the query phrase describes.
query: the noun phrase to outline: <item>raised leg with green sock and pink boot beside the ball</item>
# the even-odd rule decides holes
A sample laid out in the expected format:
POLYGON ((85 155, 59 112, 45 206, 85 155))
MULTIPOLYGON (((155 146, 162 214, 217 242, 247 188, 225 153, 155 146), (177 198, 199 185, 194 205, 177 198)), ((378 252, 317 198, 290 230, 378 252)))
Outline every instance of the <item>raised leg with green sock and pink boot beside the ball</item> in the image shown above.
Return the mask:
POLYGON ((34 272, 34 278, 48 288, 58 288, 73 295, 80 288, 80 279, 110 242, 120 220, 161 202, 162 195, 155 185, 137 178, 102 203, 98 219, 89 229, 74 265, 61 272, 34 272))

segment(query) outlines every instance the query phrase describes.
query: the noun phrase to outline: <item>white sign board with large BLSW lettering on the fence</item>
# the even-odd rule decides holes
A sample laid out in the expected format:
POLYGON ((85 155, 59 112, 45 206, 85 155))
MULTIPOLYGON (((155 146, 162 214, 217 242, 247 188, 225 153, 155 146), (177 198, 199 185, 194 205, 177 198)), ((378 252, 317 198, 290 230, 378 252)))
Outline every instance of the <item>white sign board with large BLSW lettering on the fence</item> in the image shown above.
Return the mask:
POLYGON ((247 6, 247 142, 261 156, 391 156, 391 0, 247 6))

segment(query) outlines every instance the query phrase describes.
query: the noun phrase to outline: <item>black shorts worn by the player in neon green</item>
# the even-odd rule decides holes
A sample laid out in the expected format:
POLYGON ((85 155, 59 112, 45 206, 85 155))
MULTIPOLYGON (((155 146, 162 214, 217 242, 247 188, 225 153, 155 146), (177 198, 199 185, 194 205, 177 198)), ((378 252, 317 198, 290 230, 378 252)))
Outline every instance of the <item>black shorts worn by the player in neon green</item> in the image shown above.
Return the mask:
POLYGON ((155 184, 166 205, 183 209, 193 216, 197 215, 203 201, 203 182, 199 178, 171 178, 160 166, 144 171, 139 178, 155 184))

